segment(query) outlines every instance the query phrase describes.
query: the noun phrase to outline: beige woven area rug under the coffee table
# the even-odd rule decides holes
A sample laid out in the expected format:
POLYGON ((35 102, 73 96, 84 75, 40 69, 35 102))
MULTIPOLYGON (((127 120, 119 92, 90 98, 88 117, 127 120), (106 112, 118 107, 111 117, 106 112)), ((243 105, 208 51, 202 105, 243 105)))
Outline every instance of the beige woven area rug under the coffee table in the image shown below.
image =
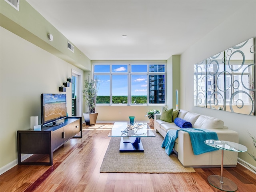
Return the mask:
POLYGON ((110 140, 100 167, 101 173, 192 173, 193 168, 184 168, 176 154, 168 156, 161 147, 164 138, 141 138, 144 153, 120 153, 120 137, 110 140))

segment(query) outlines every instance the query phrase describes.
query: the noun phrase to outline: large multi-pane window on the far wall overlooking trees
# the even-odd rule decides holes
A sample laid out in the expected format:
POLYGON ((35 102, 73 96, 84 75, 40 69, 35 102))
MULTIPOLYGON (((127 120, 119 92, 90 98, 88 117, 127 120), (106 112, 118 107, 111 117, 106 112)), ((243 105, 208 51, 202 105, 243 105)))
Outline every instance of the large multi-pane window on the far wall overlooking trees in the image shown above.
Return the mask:
POLYGON ((97 104, 165 104, 166 62, 93 62, 97 104))

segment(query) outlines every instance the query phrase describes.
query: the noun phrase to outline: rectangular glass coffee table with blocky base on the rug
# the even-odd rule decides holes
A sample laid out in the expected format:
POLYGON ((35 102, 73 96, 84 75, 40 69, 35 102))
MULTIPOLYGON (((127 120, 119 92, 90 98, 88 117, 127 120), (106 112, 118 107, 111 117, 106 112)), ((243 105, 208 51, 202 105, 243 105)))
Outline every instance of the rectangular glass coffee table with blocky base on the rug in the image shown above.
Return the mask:
POLYGON ((155 137, 146 123, 115 122, 109 137, 121 137, 119 152, 144 152, 141 137, 155 137))

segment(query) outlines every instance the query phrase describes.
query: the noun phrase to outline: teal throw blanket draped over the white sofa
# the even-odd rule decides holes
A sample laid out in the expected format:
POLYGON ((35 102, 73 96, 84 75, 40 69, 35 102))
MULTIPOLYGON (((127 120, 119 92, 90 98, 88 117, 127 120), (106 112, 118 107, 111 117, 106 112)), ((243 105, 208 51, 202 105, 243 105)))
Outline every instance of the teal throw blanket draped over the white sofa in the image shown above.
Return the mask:
POLYGON ((165 147, 165 152, 168 155, 172 154, 172 149, 174 147, 175 140, 178 138, 178 131, 180 130, 188 132, 195 155, 218 150, 204 143, 204 141, 207 139, 218 140, 218 135, 216 132, 210 131, 208 129, 184 128, 178 130, 170 130, 167 132, 162 143, 162 147, 165 147))

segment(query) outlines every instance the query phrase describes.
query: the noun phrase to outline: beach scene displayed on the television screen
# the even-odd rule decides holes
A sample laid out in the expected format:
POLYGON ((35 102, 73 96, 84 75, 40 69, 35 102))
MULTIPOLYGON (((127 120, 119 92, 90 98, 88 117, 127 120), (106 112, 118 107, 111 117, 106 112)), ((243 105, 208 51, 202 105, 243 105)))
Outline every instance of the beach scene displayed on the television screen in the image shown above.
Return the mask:
POLYGON ((44 95, 44 121, 66 116, 66 95, 44 95))

